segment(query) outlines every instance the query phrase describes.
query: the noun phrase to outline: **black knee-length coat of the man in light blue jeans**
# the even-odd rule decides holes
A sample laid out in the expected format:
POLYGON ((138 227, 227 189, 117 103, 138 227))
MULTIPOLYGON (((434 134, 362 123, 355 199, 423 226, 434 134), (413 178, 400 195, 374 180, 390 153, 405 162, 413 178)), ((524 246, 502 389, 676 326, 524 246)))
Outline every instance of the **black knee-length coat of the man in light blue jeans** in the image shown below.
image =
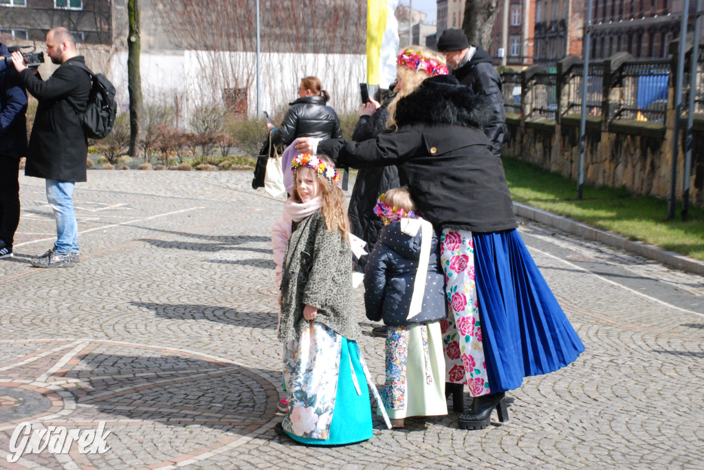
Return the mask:
POLYGON ((39 101, 27 150, 27 176, 86 181, 88 145, 80 115, 88 104, 91 79, 72 63, 85 60, 82 56, 66 60, 46 81, 29 69, 20 74, 27 91, 39 101))

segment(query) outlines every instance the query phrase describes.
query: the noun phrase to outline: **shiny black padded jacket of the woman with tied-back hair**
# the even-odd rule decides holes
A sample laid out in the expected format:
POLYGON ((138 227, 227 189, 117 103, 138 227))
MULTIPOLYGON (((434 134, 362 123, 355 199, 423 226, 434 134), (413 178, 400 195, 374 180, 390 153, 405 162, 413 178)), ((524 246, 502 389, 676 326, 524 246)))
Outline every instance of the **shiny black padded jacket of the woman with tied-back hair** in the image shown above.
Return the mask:
POLYGON ((281 125, 271 131, 273 145, 289 145, 298 137, 342 137, 340 119, 322 96, 298 98, 289 105, 281 125))

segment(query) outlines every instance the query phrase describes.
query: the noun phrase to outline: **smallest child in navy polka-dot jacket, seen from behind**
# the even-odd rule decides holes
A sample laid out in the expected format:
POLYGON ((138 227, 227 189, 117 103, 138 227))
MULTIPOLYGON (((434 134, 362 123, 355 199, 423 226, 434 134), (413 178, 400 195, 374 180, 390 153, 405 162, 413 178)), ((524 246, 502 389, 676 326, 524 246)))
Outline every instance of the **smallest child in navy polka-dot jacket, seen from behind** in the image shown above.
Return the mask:
POLYGON ((384 221, 364 276, 367 318, 384 320, 386 381, 382 400, 394 427, 411 416, 447 414, 440 320, 447 317, 439 243, 415 214, 408 188, 379 196, 384 221))

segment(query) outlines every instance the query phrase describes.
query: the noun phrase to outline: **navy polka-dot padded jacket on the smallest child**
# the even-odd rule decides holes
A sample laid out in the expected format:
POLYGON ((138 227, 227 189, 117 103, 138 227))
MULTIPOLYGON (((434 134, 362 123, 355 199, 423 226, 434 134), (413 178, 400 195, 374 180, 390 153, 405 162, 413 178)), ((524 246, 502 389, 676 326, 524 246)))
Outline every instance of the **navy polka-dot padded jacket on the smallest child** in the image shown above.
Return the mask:
POLYGON ((438 239, 433 232, 421 313, 408 320, 413 283, 420 259, 419 231, 415 237, 401 232, 401 223, 391 223, 379 234, 364 275, 367 318, 384 320, 394 327, 446 318, 445 278, 440 266, 438 239))

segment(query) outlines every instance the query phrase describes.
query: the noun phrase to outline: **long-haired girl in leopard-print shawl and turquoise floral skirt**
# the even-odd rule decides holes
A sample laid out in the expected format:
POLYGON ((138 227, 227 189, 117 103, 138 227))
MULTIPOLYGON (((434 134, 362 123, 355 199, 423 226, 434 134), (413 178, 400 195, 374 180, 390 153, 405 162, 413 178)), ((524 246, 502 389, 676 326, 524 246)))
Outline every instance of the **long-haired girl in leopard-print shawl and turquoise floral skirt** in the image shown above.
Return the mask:
POLYGON ((301 210, 291 215, 281 279, 279 340, 289 403, 278 432, 304 444, 356 443, 372 437, 372 411, 370 374, 356 342, 362 332, 352 309, 344 195, 327 157, 298 155, 291 169, 287 204, 301 210))

